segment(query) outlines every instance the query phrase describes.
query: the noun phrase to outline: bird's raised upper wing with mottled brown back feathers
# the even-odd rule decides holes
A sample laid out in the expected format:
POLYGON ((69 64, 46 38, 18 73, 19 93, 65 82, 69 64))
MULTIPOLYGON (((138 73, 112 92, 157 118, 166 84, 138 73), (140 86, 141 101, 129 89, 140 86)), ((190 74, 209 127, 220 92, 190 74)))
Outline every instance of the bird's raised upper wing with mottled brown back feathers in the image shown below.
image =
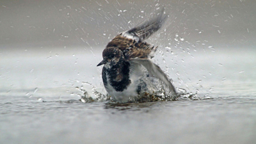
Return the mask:
POLYGON ((120 35, 115 36, 107 47, 118 47, 124 52, 127 60, 131 58, 153 58, 156 48, 147 42, 143 42, 154 32, 156 32, 163 22, 166 20, 166 16, 163 16, 164 9, 160 13, 157 13, 156 17, 145 20, 138 24, 129 31, 124 31, 120 35))

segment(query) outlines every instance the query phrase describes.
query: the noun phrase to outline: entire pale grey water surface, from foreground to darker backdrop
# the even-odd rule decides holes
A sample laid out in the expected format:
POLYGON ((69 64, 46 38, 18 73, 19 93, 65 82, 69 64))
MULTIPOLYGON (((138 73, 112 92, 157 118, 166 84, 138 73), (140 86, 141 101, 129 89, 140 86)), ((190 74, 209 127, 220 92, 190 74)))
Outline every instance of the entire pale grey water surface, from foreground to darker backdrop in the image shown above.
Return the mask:
POLYGON ((3 54, 0 143, 255 143, 255 51, 198 52, 170 66, 175 86, 211 99, 133 104, 80 102, 76 87, 90 92, 87 82, 104 93, 95 67, 101 54, 75 51, 3 54), (172 74, 177 68, 181 76, 172 74))

